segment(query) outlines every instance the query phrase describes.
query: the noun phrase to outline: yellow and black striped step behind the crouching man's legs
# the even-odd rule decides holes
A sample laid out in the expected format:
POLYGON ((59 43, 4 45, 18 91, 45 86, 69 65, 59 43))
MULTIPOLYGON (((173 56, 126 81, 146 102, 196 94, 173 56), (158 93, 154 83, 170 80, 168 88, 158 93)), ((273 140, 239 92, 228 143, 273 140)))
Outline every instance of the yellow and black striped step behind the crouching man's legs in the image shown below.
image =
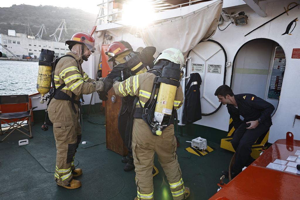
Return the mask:
MULTIPOLYGON (((233 126, 233 121, 232 118, 229 120, 229 127, 228 127, 228 134, 225 138, 221 139, 221 145, 220 147, 223 149, 227 149, 229 151, 235 152, 232 145, 231 145, 231 140, 233 138, 235 132, 235 128, 233 126)), ((259 154, 261 153, 261 149, 264 147, 265 144, 268 143, 268 138, 269 138, 269 130, 262 134, 252 145, 252 153, 251 156, 256 159, 259 157, 259 154)))

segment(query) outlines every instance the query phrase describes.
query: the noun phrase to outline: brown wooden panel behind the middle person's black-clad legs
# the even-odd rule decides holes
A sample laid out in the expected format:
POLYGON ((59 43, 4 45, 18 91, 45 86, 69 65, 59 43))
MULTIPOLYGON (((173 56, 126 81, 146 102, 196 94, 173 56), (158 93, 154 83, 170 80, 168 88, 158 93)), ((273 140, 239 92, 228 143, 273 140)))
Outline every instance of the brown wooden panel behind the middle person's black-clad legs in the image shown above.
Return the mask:
POLYGON ((106 148, 126 156, 128 150, 123 143, 118 130, 118 114, 121 108, 121 97, 115 94, 113 88, 108 91, 108 100, 105 102, 105 127, 106 127, 106 148), (111 97, 115 95, 116 102, 113 103, 111 97))

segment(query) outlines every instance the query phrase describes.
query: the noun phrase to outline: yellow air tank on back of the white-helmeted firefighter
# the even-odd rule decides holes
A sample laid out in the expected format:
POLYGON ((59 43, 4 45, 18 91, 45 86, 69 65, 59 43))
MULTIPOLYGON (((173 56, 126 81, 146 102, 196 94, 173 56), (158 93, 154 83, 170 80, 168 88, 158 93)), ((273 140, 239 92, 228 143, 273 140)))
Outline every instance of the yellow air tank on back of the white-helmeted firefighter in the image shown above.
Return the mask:
POLYGON ((159 123, 156 130, 156 135, 161 135, 163 122, 170 120, 172 116, 174 100, 177 87, 179 86, 180 79, 180 65, 176 63, 170 63, 163 68, 161 78, 158 82, 161 82, 158 91, 157 102, 154 112, 154 120, 159 123))

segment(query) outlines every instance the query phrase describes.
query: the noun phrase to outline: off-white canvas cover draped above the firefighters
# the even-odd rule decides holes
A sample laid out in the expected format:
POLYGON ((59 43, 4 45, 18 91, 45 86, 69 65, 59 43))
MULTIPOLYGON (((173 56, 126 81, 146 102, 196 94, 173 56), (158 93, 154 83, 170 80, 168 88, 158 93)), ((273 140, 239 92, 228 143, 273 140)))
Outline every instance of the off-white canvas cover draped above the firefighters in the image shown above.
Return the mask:
POLYGON ((184 16, 149 25, 140 30, 143 41, 146 46, 155 46, 157 53, 174 47, 185 57, 199 41, 208 40, 214 34, 222 6, 223 0, 218 0, 184 16))

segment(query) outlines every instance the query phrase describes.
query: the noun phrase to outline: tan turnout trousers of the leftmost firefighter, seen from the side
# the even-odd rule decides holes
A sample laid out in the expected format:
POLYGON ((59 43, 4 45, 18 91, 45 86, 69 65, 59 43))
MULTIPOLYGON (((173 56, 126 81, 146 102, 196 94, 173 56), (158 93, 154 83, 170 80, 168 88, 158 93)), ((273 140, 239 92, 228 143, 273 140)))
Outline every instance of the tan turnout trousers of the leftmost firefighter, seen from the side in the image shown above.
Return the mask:
POLYGON ((76 149, 81 140, 79 109, 75 104, 76 113, 70 101, 52 98, 48 106, 48 115, 53 123, 56 144, 56 166, 54 179, 59 185, 68 185, 73 178, 76 149))

